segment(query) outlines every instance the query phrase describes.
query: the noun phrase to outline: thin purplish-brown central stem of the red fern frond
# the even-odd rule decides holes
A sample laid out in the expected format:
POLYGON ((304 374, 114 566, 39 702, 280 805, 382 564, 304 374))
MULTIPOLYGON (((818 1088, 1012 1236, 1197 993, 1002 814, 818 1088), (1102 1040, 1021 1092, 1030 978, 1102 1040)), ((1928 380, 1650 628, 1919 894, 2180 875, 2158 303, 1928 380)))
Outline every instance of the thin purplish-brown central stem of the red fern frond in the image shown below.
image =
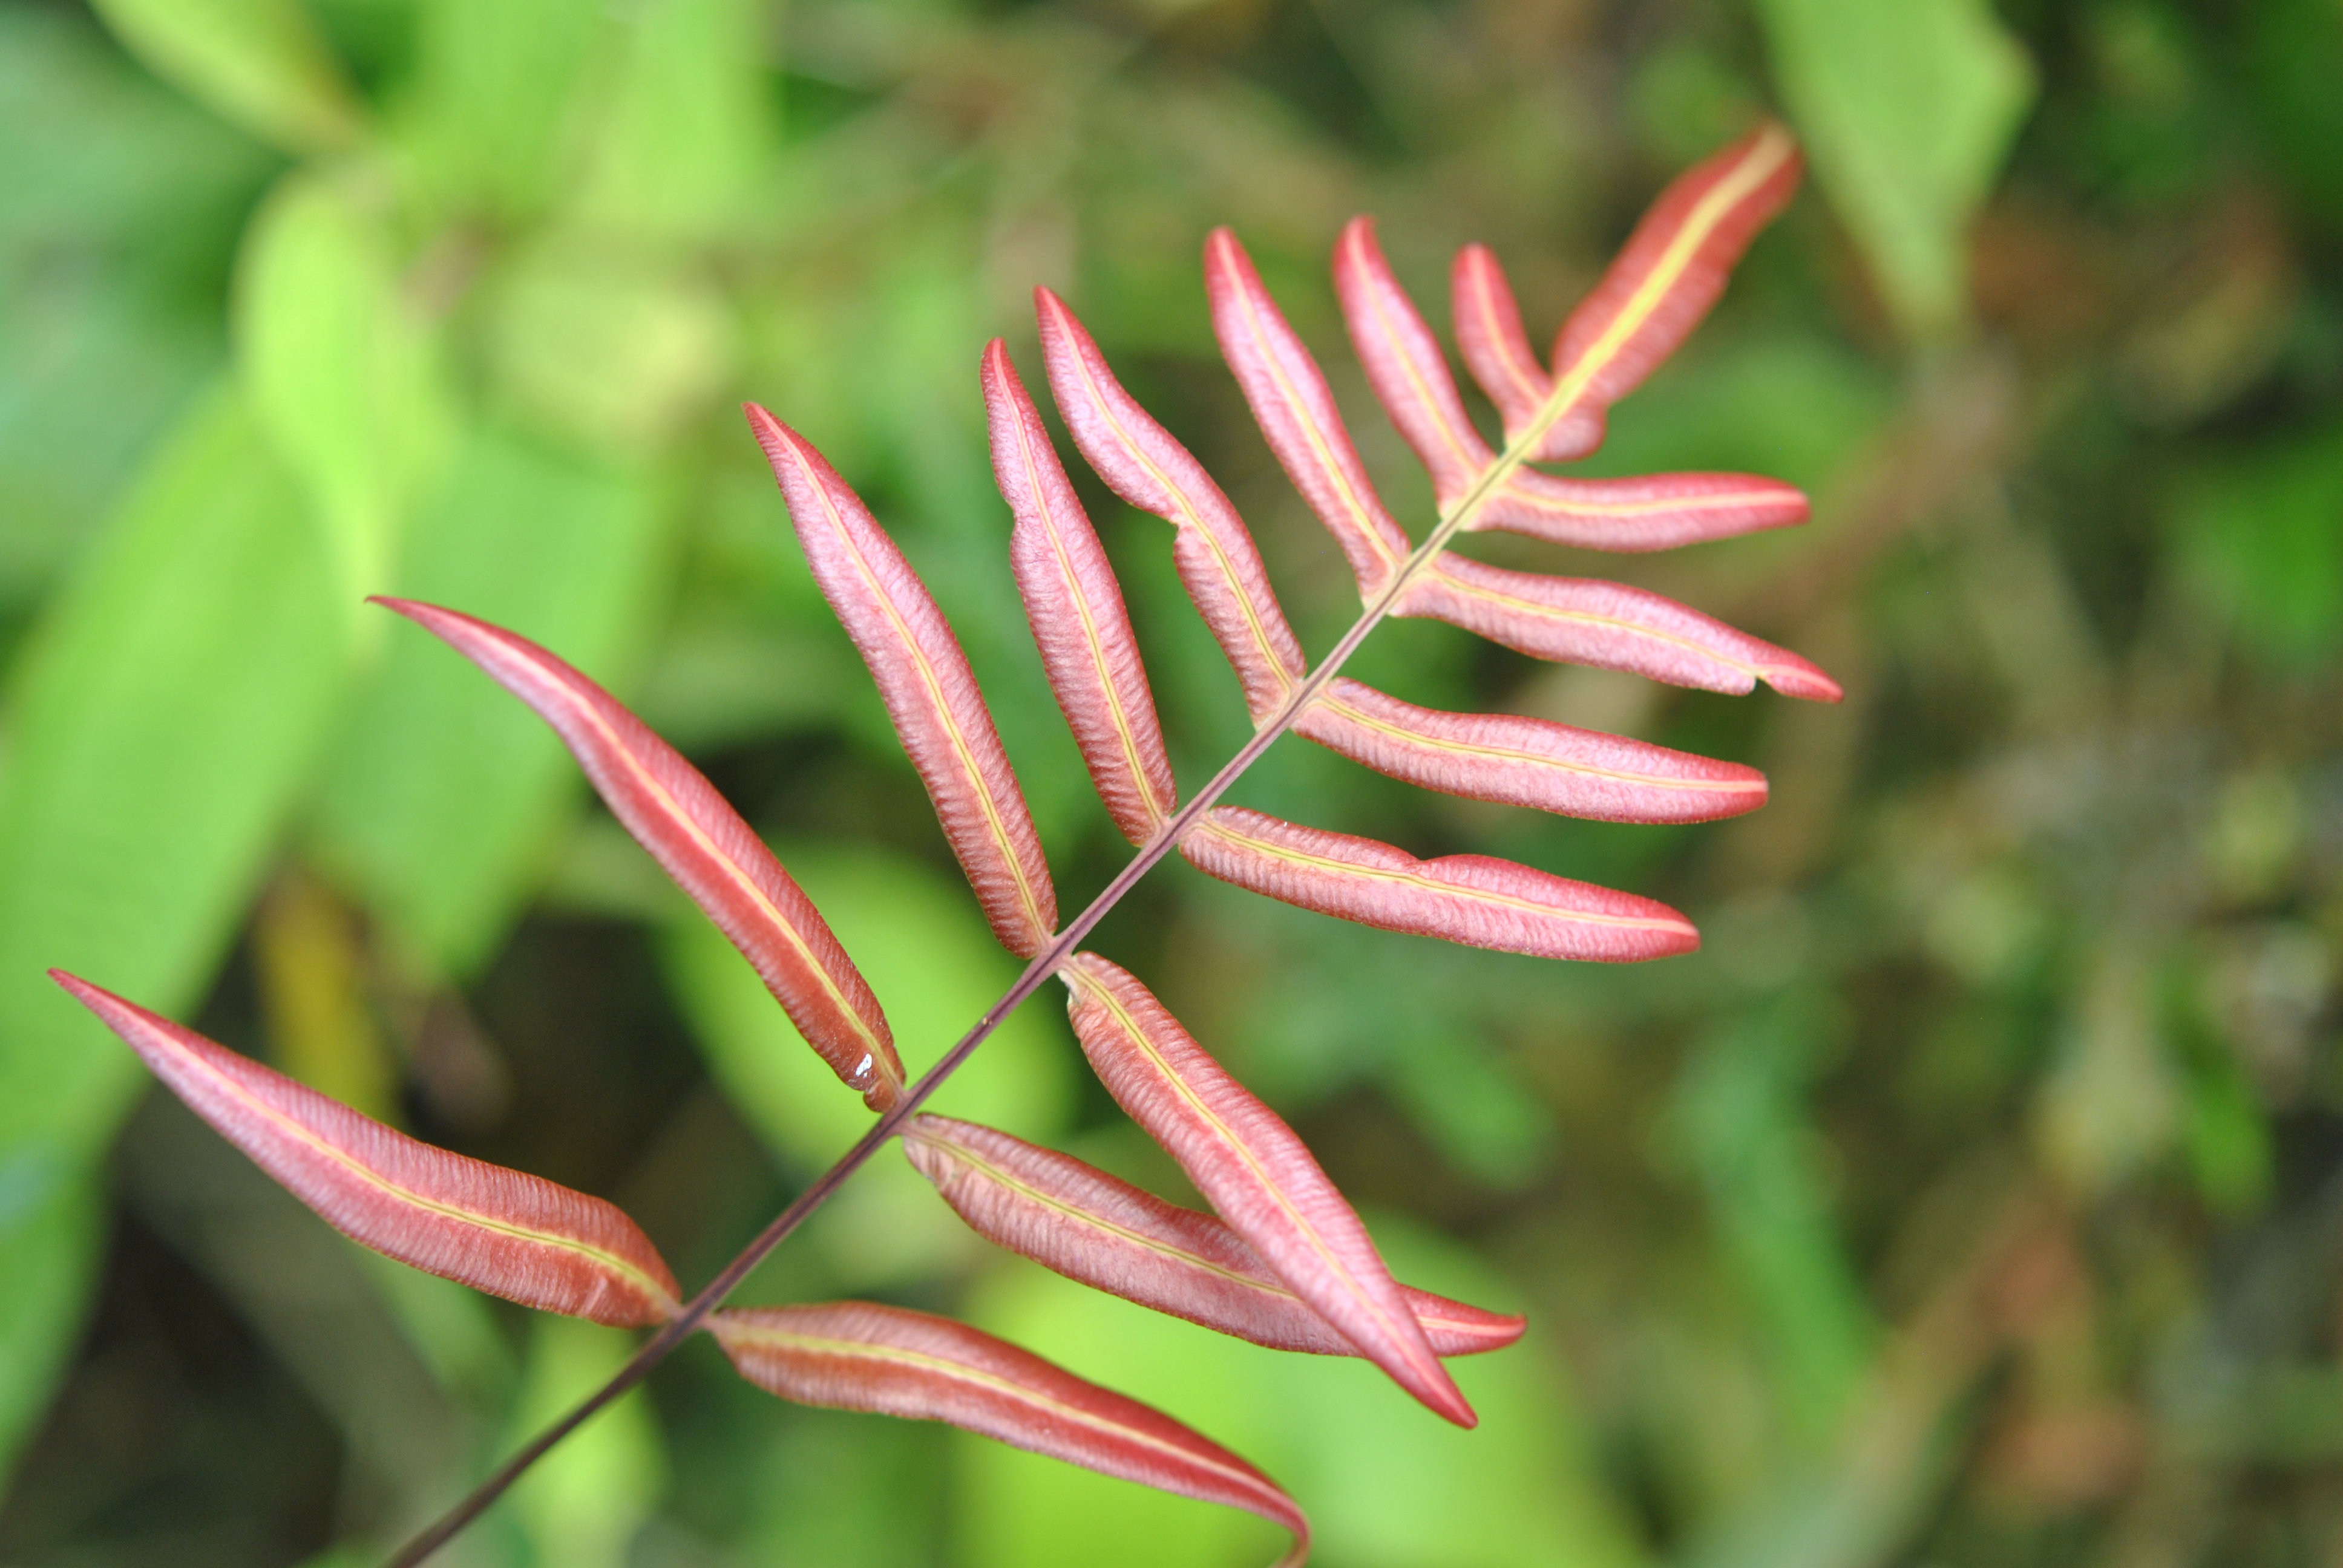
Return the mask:
POLYGON ((1064 926, 1064 930, 1059 930, 1050 940, 1047 947, 1033 954, 1033 961, 1026 963, 1022 975, 1017 975, 1017 984, 1012 984, 1000 996, 1000 1001, 996 1001, 991 1008, 984 1010, 984 1017, 977 1020, 975 1029, 963 1034, 958 1045, 944 1052, 942 1062, 921 1073, 918 1083, 904 1090, 902 1099, 897 1099, 886 1111, 886 1116, 872 1123, 872 1130, 865 1132, 860 1139, 855 1139, 853 1148, 839 1155, 839 1160, 829 1170, 825 1170, 813 1186, 799 1193, 797 1200, 757 1235, 757 1240, 752 1240, 747 1247, 740 1249, 740 1256, 726 1263, 724 1270, 715 1280, 710 1280, 691 1301, 686 1301, 684 1308, 670 1322, 661 1324, 661 1329, 651 1338, 642 1341, 642 1348, 628 1359, 626 1366, 621 1366, 612 1376, 609 1383, 597 1388, 583 1404, 579 1404, 574 1411, 555 1420, 551 1427, 532 1437, 530 1444, 520 1448, 513 1458, 504 1460, 504 1465, 499 1465, 492 1477, 480 1481, 462 1502, 440 1514, 438 1521, 431 1523, 431 1528, 426 1528, 422 1535, 401 1547, 398 1554, 384 1568, 415 1568, 433 1552, 445 1547, 450 1540, 455 1540, 455 1535, 464 1526, 469 1526, 473 1519, 487 1512, 487 1507, 497 1498, 501 1498, 506 1488, 511 1488, 513 1481, 518 1481, 522 1472, 527 1472, 530 1465, 541 1460, 553 1448, 553 1444, 562 1441, 581 1425, 593 1420, 593 1416, 602 1411, 602 1406, 607 1406, 612 1399, 642 1383, 654 1366, 668 1359, 668 1355, 708 1320, 710 1313, 724 1305, 724 1298, 740 1284, 740 1280, 750 1275, 750 1270, 757 1268, 757 1263, 764 1263, 764 1259, 776 1247, 790 1240, 790 1233, 797 1230, 801 1223, 806 1223, 806 1216, 811 1216, 818 1207, 822 1207, 829 1200, 829 1195, 846 1184, 848 1177, 862 1170, 862 1163, 869 1160, 874 1153, 879 1153, 879 1148, 890 1137, 895 1137, 895 1132, 902 1130, 902 1125, 909 1118, 918 1116, 918 1109, 928 1104, 928 1097, 933 1097, 935 1090, 944 1088, 944 1080, 951 1078, 951 1073, 961 1071, 961 1064, 968 1062, 968 1057, 977 1050, 977 1045, 991 1038, 993 1029, 998 1029, 1000 1022, 1010 1013, 1015 1013, 1022 1001, 1026 1001, 1033 991, 1038 991, 1050 980, 1050 975, 1054 975, 1059 966, 1073 956, 1073 949, 1082 942, 1082 938, 1092 933, 1092 928, 1099 921, 1106 919, 1106 912, 1120 905, 1122 895, 1129 893, 1141 877, 1155 870, 1157 860, 1162 860, 1179 846, 1179 841, 1188 834, 1188 830, 1195 827, 1197 818, 1211 811, 1228 792, 1228 788, 1235 785, 1244 776, 1244 771, 1261 759, 1261 752, 1270 750, 1270 745, 1282 734, 1293 729, 1293 720, 1298 720, 1303 710, 1312 701, 1317 701, 1319 691, 1324 691, 1326 684, 1343 670, 1343 663, 1354 652, 1359 652, 1359 645, 1366 642, 1366 635, 1375 630, 1375 626, 1380 626, 1387 614, 1392 614, 1392 607, 1399 605, 1399 595, 1406 593, 1408 584, 1413 584, 1418 574, 1422 574, 1422 570, 1429 567, 1432 560, 1441 551, 1446 551, 1448 544, 1464 527, 1471 525, 1471 518, 1478 516, 1478 511, 1504 485, 1504 480, 1514 473, 1514 469, 1518 469, 1528 459, 1528 455, 1537 448, 1544 434, 1563 415, 1572 396, 1577 396, 1577 387, 1572 387, 1572 382, 1565 380, 1560 387, 1556 387, 1539 420, 1530 429, 1525 429, 1521 438, 1511 441, 1504 448, 1504 452, 1481 473, 1481 478, 1474 480, 1474 488, 1467 490, 1464 497, 1457 499, 1457 504, 1441 518, 1439 527, 1434 527, 1432 534, 1420 546, 1415 546, 1415 551, 1399 565, 1399 570, 1392 572, 1392 581, 1387 581, 1382 591, 1373 600, 1368 600, 1359 619, 1352 621, 1347 633, 1343 633, 1343 640, 1333 645, 1333 649, 1319 661, 1314 670, 1310 670, 1300 680, 1298 687, 1293 687, 1291 694, 1286 694, 1286 701, 1279 703, 1277 710, 1270 713, 1270 717, 1263 720, 1258 729, 1254 729, 1254 738, 1246 741, 1244 748, 1237 750, 1237 755, 1230 757, 1228 764, 1211 776, 1211 783, 1197 790, 1195 797, 1186 806, 1181 806, 1153 839, 1148 839, 1146 848, 1132 855, 1132 863, 1125 865, 1115 874, 1115 879, 1108 881, 1106 888, 1089 900, 1087 909, 1073 916, 1064 926))

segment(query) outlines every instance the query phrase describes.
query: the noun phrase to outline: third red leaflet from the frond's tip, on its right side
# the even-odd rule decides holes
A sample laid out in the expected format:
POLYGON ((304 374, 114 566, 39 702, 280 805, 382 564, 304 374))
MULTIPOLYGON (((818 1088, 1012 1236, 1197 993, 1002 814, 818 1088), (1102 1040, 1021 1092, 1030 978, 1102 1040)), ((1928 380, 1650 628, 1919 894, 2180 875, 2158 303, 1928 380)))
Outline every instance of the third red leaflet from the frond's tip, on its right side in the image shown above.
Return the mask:
POLYGON ((1439 713, 1336 677, 1293 731, 1427 790, 1603 823, 1710 823, 1764 804, 1764 773, 1509 713, 1439 713))

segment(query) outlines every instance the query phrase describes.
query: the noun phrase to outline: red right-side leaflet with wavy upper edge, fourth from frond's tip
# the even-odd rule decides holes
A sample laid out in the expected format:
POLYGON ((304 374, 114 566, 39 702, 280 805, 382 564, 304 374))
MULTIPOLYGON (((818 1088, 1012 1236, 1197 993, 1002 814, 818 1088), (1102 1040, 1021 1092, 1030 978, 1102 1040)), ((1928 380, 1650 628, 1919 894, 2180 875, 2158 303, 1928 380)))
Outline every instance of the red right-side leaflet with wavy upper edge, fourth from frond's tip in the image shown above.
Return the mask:
POLYGON ((1490 855, 1418 860, 1347 832, 1216 806, 1181 853, 1204 874, 1336 919, 1532 959, 1638 963, 1701 945, 1668 905, 1490 855))

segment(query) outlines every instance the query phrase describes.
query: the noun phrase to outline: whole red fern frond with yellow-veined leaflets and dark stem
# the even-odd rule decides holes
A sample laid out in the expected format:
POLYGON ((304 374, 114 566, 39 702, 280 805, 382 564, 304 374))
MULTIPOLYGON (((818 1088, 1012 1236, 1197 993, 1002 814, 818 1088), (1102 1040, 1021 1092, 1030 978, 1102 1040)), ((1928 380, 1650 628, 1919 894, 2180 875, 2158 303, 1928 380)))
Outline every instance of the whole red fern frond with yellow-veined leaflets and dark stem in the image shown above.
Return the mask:
POLYGON ((1167 853, 1242 888, 1387 930, 1546 959, 1631 961, 1689 952, 1666 905, 1485 855, 1418 860, 1343 832, 1218 806, 1289 729, 1432 790, 1619 823, 1699 823, 1764 802, 1764 776, 1685 752, 1509 717, 1434 713, 1340 668, 1392 614, 1436 616, 1539 659, 1682 687, 1835 701, 1811 663, 1694 609, 1619 584, 1542 577, 1450 555, 1460 532, 1511 530, 1600 551, 1657 551, 1799 523, 1806 499, 1739 473, 1558 478, 1603 441, 1605 410, 1715 302, 1755 232, 1797 185, 1790 136, 1764 124, 1678 178, 1563 326, 1551 366, 1523 333, 1497 260, 1453 270, 1455 335, 1504 422, 1492 450, 1448 361, 1394 281, 1375 230, 1343 230, 1333 281, 1368 384, 1432 473, 1439 523, 1413 544, 1366 478, 1317 361, 1228 230, 1204 246, 1214 330, 1279 464, 1359 579, 1364 614, 1312 668, 1251 534, 1218 485, 1115 382, 1099 347, 1036 291, 1050 391, 1082 457, 1125 502, 1174 525, 1190 598, 1235 666, 1254 736, 1186 804, 1122 593, 1050 434, 993 340, 984 403, 993 471, 1015 513, 1010 558, 1050 684, 1136 858, 1059 923, 1040 839, 951 628, 843 478, 754 403, 750 427, 787 497, 813 577, 846 623, 1000 942, 1029 959, 1017 984, 916 1083, 869 987, 761 839, 675 750, 551 652, 457 609, 382 600, 438 633, 530 703, 569 745, 612 813, 733 940, 876 1123, 689 1301, 623 1212, 537 1177, 462 1158, 239 1057, 84 980, 56 980, 262 1170, 354 1240, 483 1291, 654 1334, 590 1399, 408 1542, 424 1561, 522 1470, 640 1383, 698 1329, 783 1399, 947 1420, 1106 1474, 1249 1509, 1293 1533, 1293 1498, 1235 1453, 1026 1350, 925 1313, 832 1303, 719 1310, 881 1144, 904 1153, 970 1228, 1061 1275, 1275 1350, 1361 1355, 1457 1425, 1474 1411, 1441 1357, 1497 1350, 1521 1317, 1392 1280, 1366 1228, 1284 1120, 1230 1078, 1127 970, 1080 942, 1167 853), (921 1104, 1050 977, 1068 989, 1082 1052, 1115 1102, 1162 1144, 1214 1214, 1167 1205, 1068 1155, 921 1104))

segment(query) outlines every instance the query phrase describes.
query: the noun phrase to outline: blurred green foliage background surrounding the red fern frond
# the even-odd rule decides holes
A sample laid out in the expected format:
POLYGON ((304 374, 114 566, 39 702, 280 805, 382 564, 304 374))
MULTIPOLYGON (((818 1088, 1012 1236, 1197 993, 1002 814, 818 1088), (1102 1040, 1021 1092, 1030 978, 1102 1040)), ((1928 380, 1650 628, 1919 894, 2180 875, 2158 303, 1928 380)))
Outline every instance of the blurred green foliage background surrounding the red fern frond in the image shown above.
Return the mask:
MULTIPOLYGON (((977 354, 1066 293, 1254 523, 1350 577, 1211 352, 1232 223, 1368 464, 1373 211, 1532 335, 1778 113, 1806 192, 1596 471, 1790 534, 1626 577, 1842 708, 1401 623, 1357 673, 1764 766, 1699 830, 1249 804, 1668 898, 1603 970, 1164 867, 1099 947, 1418 1284, 1521 1308, 1460 1434, 965 1235, 895 1155, 745 1291, 963 1313, 1286 1481, 1328 1568, 2343 1563, 2343 5, 2336 0, 0 0, 0 1559, 363 1563, 626 1355, 380 1266, 56 994, 70 966, 708 1277, 862 1123, 747 968, 396 588, 548 642, 799 870, 935 1059, 989 945, 736 398, 862 488, 986 682, 1059 888, 1127 853, 1017 614, 977 354), (342 1556, 326 1556, 340 1552, 342 1556)), ((1167 537, 1078 476, 1181 776, 1244 736, 1167 537)), ((947 1106, 1181 1195, 1036 1003, 947 1106)), ((1256 1521, 787 1409, 705 1343, 459 1566, 1268 1561, 1256 1521)))

